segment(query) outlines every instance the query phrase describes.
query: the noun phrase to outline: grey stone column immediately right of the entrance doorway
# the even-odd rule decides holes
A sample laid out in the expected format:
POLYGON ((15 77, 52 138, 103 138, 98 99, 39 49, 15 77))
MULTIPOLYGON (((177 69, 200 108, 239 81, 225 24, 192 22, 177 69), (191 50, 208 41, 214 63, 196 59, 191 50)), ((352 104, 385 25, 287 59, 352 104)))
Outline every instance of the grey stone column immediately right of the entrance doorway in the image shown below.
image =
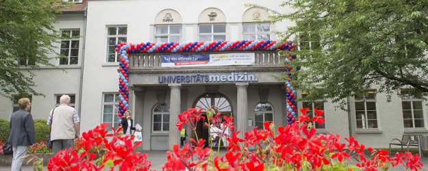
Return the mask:
POLYGON ((236 131, 241 131, 238 137, 244 138, 244 133, 248 131, 248 99, 247 99, 248 83, 236 83, 238 89, 237 107, 236 107, 236 131))

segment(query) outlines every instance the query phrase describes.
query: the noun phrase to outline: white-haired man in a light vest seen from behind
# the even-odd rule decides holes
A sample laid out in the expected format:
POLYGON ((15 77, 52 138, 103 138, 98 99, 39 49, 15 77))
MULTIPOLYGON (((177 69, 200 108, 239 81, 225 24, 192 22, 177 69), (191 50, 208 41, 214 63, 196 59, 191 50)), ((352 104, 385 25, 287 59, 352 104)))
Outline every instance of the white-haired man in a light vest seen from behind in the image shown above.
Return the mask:
POLYGON ((74 139, 79 138, 79 116, 70 107, 70 96, 62 95, 58 107, 51 110, 47 125, 51 126, 52 152, 55 156, 60 150, 73 148, 74 139), (73 129, 74 128, 74 129, 73 129))

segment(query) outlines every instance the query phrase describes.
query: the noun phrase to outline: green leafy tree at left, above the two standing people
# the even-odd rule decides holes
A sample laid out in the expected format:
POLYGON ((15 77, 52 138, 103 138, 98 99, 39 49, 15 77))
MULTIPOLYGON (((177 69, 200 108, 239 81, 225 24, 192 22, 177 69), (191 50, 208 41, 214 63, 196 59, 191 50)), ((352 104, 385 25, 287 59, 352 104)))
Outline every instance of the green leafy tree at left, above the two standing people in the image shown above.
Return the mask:
POLYGON ((62 0, 0 0, 0 94, 10 97, 11 93, 21 96, 43 95, 33 88, 34 73, 26 76, 25 68, 40 69, 40 66, 55 65, 51 59, 61 56, 53 46, 61 33, 55 30, 55 14, 60 8, 72 3, 62 0), (55 57, 49 57, 49 55, 55 57))

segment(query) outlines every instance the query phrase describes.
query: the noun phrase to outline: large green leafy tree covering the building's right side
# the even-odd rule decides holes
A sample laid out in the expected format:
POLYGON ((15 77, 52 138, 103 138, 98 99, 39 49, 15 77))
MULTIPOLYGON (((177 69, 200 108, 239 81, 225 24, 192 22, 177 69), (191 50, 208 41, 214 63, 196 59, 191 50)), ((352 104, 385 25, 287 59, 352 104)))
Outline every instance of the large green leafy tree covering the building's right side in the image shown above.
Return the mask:
POLYGON ((301 66, 292 83, 309 93, 303 100, 329 98, 343 106, 344 98, 372 88, 386 92, 388 101, 407 88, 412 96, 427 95, 427 0, 290 0, 281 6, 294 11, 265 9, 273 13, 271 22, 297 23, 277 34, 295 36, 304 49, 288 52, 297 55, 291 64, 301 66))

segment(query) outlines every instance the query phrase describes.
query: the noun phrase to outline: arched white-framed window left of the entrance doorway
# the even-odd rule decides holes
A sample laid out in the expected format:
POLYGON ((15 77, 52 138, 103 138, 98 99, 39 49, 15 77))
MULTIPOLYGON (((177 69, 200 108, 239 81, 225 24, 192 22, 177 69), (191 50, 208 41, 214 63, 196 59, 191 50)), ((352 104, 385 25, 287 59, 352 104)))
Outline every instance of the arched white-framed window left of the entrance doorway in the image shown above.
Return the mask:
POLYGON ((153 132, 169 131, 169 106, 157 105, 153 109, 153 132))

